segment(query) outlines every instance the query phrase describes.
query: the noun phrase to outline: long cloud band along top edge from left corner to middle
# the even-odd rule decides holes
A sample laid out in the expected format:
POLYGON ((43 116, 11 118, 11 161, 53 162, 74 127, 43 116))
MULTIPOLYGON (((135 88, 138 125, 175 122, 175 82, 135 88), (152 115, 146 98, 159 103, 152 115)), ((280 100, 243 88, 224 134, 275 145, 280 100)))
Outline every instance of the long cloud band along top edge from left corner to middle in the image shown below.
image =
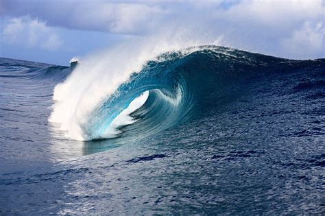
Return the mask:
POLYGON ((3 0, 3 16, 25 16, 47 25, 118 34, 141 34, 165 15, 160 3, 132 1, 3 0), (39 4, 42 3, 42 7, 39 4), (17 5, 19 5, 17 7, 17 5))

